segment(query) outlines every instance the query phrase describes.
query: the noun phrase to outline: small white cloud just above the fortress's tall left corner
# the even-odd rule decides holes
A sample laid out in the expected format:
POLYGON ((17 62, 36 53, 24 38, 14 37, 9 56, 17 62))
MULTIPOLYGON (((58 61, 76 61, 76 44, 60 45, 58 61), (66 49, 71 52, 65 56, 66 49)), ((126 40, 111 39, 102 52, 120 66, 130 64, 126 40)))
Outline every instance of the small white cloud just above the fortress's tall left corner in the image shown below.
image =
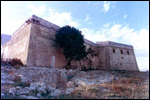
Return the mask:
POLYGON ((37 16, 43 15, 46 11, 46 5, 35 6, 33 4, 28 4, 27 8, 31 10, 30 13, 35 14, 37 16))

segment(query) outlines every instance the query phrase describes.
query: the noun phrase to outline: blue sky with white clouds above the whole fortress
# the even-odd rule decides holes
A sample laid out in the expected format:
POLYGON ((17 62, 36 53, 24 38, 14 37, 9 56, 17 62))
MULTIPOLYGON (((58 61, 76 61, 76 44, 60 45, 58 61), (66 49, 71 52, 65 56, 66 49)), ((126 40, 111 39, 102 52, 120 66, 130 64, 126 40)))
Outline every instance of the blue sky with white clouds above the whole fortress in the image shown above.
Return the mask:
POLYGON ((1 1, 1 33, 12 35, 33 14, 94 43, 132 45, 139 69, 149 70, 149 1, 1 1))

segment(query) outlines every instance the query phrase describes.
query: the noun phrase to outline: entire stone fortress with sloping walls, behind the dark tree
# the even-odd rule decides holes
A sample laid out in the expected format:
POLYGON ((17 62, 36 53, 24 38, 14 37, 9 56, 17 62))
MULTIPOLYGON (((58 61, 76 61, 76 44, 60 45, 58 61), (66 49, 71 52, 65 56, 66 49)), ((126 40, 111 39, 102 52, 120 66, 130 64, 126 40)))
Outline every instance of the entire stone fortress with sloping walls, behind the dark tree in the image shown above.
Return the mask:
MULTIPOLYGON (((18 58, 26 66, 65 68, 62 49, 54 42, 61 27, 32 15, 16 30, 11 40, 1 46, 1 57, 18 58)), ((72 61, 74 68, 139 71, 133 46, 111 41, 93 43, 84 39, 86 49, 93 50, 86 59, 72 61)))

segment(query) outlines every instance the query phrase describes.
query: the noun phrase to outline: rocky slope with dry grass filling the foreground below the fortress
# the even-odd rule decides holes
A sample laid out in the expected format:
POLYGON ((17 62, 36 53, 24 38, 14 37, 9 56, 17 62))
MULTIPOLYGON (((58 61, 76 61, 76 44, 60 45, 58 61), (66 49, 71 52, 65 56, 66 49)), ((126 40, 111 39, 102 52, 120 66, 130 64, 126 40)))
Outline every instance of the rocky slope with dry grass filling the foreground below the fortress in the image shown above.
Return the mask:
POLYGON ((4 99, 149 98, 148 93, 149 72, 102 70, 85 72, 38 67, 15 69, 12 66, 1 66, 1 98, 4 99), (135 90, 144 91, 145 95, 142 95, 143 92, 137 92, 137 95, 135 90), (134 93, 130 96, 126 91, 131 92, 130 95, 134 93))

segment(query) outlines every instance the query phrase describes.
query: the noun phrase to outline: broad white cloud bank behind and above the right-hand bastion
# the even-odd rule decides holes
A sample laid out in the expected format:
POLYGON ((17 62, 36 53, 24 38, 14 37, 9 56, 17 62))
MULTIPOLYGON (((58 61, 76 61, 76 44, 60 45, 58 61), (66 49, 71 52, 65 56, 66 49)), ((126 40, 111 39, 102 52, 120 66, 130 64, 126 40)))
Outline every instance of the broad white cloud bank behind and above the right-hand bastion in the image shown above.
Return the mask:
POLYGON ((140 70, 149 70, 149 30, 141 29, 135 31, 129 24, 104 24, 103 27, 95 31, 93 29, 82 28, 85 38, 93 41, 114 41, 123 44, 133 45, 140 70))

